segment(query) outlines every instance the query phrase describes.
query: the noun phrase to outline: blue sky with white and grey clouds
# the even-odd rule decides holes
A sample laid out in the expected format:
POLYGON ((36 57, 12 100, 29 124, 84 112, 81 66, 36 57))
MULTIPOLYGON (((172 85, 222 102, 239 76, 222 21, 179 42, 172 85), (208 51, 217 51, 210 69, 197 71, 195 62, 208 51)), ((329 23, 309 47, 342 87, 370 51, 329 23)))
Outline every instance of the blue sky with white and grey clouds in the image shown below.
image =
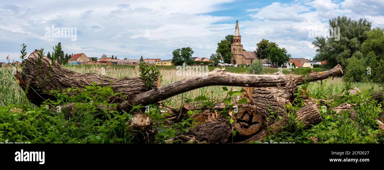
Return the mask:
POLYGON ((52 52, 58 42, 64 53, 88 57, 166 60, 173 50, 191 47, 193 57, 209 58, 217 43, 234 33, 236 20, 245 50, 256 50, 268 39, 292 57, 310 59, 315 49, 308 34, 325 30, 330 18, 343 15, 384 27, 384 1, 0 0, 0 61, 7 55, 11 62, 20 61, 23 43, 29 55, 40 48, 52 52), (76 39, 49 35, 52 26, 76 30, 76 39))

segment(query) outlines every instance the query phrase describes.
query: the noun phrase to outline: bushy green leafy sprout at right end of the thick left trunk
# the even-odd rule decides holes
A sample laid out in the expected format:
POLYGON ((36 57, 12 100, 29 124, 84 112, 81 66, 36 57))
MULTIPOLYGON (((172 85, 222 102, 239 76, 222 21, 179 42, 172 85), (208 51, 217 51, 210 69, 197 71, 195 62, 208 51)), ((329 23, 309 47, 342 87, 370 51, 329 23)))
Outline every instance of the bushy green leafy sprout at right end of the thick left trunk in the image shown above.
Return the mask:
MULTIPOLYGON (((140 79, 144 84, 145 89, 153 89, 153 84, 157 81, 157 77, 160 76, 160 71, 157 66, 147 65, 145 62, 139 64, 140 79)), ((161 79, 161 78, 160 78, 161 79)))

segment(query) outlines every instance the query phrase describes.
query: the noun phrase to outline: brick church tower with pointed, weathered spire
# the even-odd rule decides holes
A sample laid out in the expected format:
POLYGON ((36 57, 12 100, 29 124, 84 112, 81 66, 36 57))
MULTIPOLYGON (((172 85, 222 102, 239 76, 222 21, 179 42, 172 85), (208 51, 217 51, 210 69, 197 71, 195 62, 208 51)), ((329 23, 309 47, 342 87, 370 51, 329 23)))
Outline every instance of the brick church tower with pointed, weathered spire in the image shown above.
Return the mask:
POLYGON ((238 21, 236 21, 235 34, 233 34, 231 53, 233 55, 231 64, 243 64, 243 44, 241 44, 238 21))

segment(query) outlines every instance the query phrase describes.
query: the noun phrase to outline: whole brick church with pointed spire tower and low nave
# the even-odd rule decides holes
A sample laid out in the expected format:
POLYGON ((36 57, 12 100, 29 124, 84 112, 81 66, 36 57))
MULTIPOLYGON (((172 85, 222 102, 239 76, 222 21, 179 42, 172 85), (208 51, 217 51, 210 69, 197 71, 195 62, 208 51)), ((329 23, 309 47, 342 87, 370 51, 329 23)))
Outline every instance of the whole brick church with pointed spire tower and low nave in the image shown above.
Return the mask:
POLYGON ((256 51, 243 51, 238 21, 236 21, 235 34, 233 35, 233 42, 231 45, 231 53, 233 55, 231 64, 233 65, 250 65, 253 60, 260 59, 260 57, 256 54, 256 51))

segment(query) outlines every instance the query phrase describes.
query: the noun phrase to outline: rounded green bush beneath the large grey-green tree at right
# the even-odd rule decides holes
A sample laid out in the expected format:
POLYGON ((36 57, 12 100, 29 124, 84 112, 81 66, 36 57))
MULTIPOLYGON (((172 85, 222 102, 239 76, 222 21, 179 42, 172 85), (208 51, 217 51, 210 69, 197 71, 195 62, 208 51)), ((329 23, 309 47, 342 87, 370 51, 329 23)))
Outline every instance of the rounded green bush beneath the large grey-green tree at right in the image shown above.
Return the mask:
POLYGON ((361 59, 356 57, 351 57, 347 59, 347 66, 345 69, 345 74, 343 76, 344 81, 360 82, 365 81, 366 78, 366 68, 367 66, 361 59))

